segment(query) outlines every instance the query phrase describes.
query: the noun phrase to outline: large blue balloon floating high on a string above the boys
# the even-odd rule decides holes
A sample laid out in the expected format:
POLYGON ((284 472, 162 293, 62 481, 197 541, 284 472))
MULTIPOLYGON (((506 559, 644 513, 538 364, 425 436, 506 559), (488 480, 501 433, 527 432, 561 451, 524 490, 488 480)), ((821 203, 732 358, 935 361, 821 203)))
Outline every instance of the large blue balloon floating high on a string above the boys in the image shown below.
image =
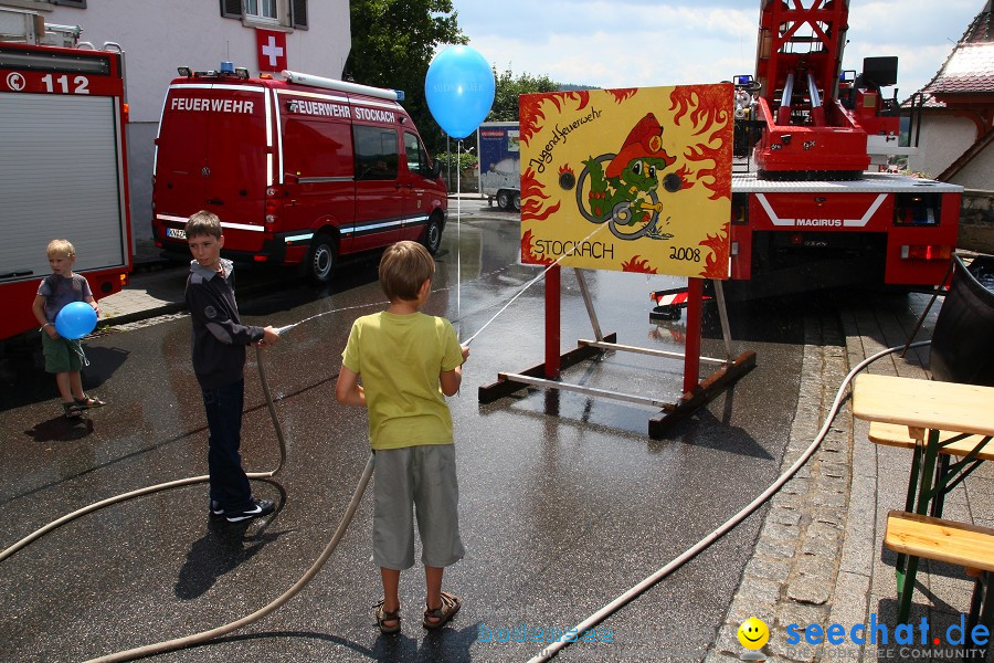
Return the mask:
POLYGON ((424 77, 432 117, 453 138, 476 130, 494 105, 494 71, 478 51, 450 46, 435 55, 424 77))

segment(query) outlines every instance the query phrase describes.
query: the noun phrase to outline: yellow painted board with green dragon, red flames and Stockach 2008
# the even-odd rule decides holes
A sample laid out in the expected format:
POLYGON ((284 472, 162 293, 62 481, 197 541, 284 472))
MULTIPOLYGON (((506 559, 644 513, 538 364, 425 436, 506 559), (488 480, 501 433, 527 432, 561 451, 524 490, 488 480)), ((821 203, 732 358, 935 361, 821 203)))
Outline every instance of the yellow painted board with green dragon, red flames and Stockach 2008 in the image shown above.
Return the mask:
POLYGON ((728 278, 732 94, 522 95, 521 262, 728 278))

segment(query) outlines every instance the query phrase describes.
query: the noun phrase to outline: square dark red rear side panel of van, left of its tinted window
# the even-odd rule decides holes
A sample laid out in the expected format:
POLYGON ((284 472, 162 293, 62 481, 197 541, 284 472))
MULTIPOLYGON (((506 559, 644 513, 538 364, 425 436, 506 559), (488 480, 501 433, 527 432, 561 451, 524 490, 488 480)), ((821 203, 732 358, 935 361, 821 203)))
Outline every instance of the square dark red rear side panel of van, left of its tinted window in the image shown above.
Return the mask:
POLYGON ((286 172, 304 179, 352 176, 347 123, 288 117, 283 133, 286 172))

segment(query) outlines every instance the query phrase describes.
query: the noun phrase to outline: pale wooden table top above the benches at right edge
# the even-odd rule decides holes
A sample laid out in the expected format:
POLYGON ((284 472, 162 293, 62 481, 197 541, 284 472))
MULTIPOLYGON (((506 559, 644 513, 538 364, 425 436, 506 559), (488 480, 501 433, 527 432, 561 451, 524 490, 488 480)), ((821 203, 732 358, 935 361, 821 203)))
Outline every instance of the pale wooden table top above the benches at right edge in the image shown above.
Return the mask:
POLYGON ((976 435, 994 435, 994 387, 916 378, 856 376, 853 415, 976 435))

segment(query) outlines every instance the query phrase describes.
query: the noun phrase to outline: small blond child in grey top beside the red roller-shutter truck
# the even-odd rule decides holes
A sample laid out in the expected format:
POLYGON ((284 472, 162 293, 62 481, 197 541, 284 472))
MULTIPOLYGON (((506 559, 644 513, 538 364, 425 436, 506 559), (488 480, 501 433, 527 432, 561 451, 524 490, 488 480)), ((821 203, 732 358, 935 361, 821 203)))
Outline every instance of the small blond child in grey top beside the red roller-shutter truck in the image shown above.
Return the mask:
POLYGON ((66 304, 86 302, 99 315, 101 309, 89 283, 82 274, 73 273, 76 250, 67 240, 52 240, 45 249, 52 274, 45 276, 38 287, 38 295, 31 312, 42 330, 42 349, 45 355, 45 370, 55 373, 55 385, 62 396, 62 408, 67 419, 78 419, 88 408, 104 404, 98 398, 83 392, 83 348, 78 339, 63 338, 55 329, 55 317, 66 304))

